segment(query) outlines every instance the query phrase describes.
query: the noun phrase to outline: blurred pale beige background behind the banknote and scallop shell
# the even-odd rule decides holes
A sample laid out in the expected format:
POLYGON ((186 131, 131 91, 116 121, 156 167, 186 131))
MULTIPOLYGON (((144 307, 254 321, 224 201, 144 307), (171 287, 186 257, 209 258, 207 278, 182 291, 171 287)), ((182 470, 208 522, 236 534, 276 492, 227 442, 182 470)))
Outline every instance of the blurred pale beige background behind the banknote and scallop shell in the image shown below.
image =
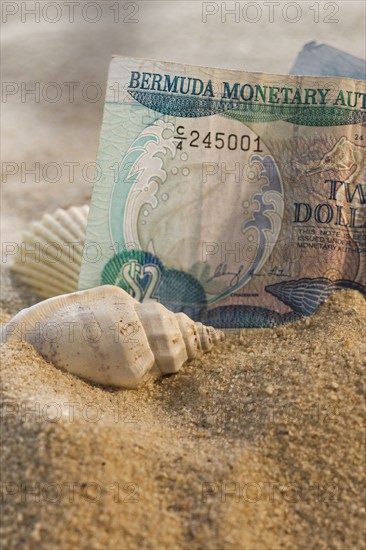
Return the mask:
POLYGON ((2 240, 89 201, 113 54, 288 73, 318 41, 365 57, 360 1, 2 2, 2 240))

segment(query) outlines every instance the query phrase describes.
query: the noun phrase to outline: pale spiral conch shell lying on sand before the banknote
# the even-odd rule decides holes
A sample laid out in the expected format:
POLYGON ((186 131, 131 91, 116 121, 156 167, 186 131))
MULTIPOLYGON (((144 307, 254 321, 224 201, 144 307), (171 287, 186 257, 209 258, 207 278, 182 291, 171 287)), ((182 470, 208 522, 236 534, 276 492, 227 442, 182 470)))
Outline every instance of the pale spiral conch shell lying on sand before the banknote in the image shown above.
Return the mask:
POLYGON ((2 331, 3 342, 26 341, 58 367, 99 384, 126 388, 177 372, 187 359, 221 339, 221 331, 157 302, 141 304, 112 285, 23 309, 2 331))

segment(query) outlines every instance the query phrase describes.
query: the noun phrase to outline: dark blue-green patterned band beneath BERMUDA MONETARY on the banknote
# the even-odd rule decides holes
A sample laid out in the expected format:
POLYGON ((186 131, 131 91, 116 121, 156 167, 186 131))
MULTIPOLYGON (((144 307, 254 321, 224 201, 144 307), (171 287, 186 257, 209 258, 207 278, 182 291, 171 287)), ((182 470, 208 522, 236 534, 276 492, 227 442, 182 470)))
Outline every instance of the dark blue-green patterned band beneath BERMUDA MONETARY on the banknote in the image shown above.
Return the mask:
POLYGON ((364 124, 366 113, 360 109, 319 105, 259 105, 251 101, 187 97, 152 91, 133 91, 129 94, 141 105, 163 113, 186 118, 211 116, 219 113, 241 122, 273 122, 284 120, 299 126, 343 126, 364 124))

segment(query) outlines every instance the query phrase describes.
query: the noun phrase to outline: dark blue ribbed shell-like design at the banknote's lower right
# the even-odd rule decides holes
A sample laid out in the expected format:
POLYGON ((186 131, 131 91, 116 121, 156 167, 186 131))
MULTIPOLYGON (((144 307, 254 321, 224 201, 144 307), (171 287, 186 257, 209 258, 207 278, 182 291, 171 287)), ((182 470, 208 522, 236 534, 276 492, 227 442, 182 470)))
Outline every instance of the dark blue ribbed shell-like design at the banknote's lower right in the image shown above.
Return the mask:
POLYGON ((304 278, 268 285, 265 290, 301 315, 311 315, 334 290, 349 288, 366 296, 366 288, 348 279, 304 278))

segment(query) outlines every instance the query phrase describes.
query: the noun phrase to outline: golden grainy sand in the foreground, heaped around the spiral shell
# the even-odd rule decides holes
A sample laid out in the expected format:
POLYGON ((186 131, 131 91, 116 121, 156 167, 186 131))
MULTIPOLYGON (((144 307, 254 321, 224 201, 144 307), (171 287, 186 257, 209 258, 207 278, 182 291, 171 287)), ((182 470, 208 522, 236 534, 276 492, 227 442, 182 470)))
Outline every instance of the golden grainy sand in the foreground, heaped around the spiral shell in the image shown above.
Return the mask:
POLYGON ((365 304, 336 292, 137 391, 3 345, 3 548, 364 548, 365 304))

